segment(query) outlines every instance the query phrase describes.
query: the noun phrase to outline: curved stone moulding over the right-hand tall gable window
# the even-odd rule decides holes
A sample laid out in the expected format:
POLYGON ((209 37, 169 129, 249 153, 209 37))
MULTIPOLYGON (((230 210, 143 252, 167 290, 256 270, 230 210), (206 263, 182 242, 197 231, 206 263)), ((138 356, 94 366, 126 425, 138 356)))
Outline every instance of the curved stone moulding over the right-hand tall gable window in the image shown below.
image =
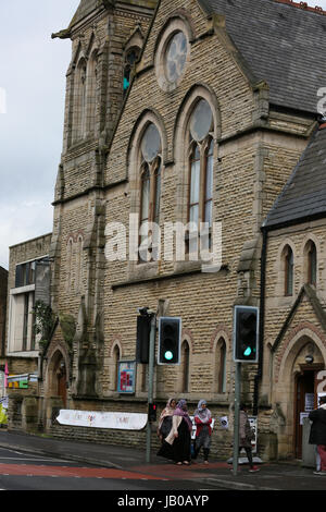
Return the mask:
POLYGON ((211 107, 213 113, 213 123, 214 123, 214 143, 218 141, 222 136, 222 118, 218 99, 214 90, 203 84, 195 84, 186 94, 183 99, 178 111, 176 113, 174 130, 173 130, 173 160, 183 162, 184 159, 184 141, 186 136, 186 130, 189 124, 189 120, 196 103, 200 99, 205 99, 211 107))

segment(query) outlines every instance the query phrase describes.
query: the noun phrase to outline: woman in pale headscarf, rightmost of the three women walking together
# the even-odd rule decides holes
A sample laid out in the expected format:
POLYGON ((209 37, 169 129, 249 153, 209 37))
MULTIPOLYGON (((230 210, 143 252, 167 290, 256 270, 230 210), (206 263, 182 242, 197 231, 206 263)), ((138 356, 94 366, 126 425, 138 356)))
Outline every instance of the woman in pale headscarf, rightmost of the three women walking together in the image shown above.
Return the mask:
POLYGON ((212 414, 208 409, 208 402, 200 400, 195 411, 193 419, 196 423, 196 440, 195 440, 195 454, 193 459, 197 459, 201 447, 203 448, 204 464, 209 463, 209 454, 211 448, 211 436, 212 436, 212 414))

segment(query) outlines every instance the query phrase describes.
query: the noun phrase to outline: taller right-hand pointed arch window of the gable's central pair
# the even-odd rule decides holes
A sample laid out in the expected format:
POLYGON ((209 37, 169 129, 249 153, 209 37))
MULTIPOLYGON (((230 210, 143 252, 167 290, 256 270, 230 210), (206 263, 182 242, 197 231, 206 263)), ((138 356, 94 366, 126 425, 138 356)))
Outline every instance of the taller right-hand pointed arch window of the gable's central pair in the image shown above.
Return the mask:
MULTIPOLYGON (((213 218, 213 113, 209 102, 200 99, 189 123, 189 202, 188 222, 199 229, 205 222, 209 230, 213 218)), ((210 240, 210 236, 209 236, 210 240)))

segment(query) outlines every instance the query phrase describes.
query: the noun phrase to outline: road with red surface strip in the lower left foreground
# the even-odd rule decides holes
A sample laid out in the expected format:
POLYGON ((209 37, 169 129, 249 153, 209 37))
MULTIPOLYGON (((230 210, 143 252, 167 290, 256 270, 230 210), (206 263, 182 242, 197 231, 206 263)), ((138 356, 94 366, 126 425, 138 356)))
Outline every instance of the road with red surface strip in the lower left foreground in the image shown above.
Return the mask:
POLYGON ((170 479, 116 468, 95 467, 70 460, 33 455, 0 448, 1 490, 114 490, 201 492, 213 489, 200 481, 170 479))

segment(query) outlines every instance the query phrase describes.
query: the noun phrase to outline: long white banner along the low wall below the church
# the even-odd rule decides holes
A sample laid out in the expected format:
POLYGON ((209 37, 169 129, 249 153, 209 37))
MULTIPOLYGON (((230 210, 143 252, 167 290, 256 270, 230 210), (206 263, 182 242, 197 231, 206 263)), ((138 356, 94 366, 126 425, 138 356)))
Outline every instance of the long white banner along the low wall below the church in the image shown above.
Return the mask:
POLYGON ((60 410, 57 420, 61 425, 75 425, 78 427, 141 430, 147 424, 147 414, 105 413, 98 411, 74 411, 62 409, 60 410))

